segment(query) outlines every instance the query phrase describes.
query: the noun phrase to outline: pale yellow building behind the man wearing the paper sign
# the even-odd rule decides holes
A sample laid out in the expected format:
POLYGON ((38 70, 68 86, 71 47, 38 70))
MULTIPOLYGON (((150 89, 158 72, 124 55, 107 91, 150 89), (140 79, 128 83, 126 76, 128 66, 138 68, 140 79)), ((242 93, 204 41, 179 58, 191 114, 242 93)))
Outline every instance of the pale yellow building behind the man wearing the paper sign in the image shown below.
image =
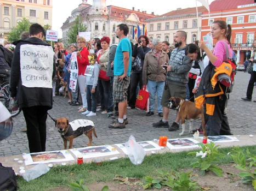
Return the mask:
POLYGON ((0 0, 0 42, 22 18, 52 26, 53 0, 0 0))

